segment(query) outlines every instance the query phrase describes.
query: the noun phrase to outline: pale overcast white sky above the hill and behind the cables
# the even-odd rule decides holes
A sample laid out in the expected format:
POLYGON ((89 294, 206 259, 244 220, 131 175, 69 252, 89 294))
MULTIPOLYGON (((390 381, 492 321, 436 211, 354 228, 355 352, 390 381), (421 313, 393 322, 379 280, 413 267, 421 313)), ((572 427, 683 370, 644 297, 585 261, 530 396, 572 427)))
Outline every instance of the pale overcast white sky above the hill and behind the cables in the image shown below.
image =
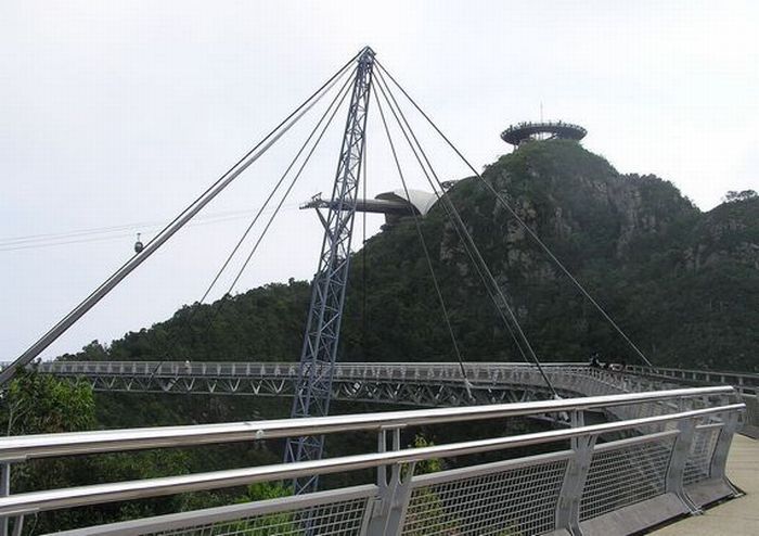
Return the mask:
MULTIPOLYGON (((509 152, 499 133, 540 118, 542 105, 546 119, 583 125, 583 145, 620 173, 670 180, 703 210, 728 190, 759 190, 757 28, 759 4, 749 1, 5 0, 0 361, 127 260, 137 232, 154 235, 366 44, 476 167, 509 152)), ((43 356, 108 343, 198 299, 311 115, 43 356)), ((344 116, 233 292, 312 276, 322 231, 298 204, 330 191, 344 116)), ((466 176, 414 120, 441 178, 466 176)), ((369 196, 400 188, 383 136, 370 110, 369 196)), ((410 187, 424 189, 408 169, 410 187)), ((368 217, 365 233, 381 224, 368 217)))

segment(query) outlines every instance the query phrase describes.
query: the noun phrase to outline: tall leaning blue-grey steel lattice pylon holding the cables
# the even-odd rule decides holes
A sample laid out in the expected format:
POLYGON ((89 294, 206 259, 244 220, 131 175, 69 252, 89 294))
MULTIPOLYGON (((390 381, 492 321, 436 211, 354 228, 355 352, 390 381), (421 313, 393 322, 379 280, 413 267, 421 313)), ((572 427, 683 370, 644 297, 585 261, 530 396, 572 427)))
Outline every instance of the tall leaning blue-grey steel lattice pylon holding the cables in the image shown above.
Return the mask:
MULTIPOLYGON (((356 199, 365 143, 366 112, 372 86, 374 51, 366 47, 358 59, 348 119, 340 149, 332 203, 326 215, 319 213, 324 240, 319 269, 313 278, 311 306, 306 324, 300 368, 295 386, 292 417, 322 417, 330 410, 333 365, 337 356, 345 291, 350 264, 356 199)), ((324 437, 287 441, 285 462, 318 460, 324 437)), ((316 475, 295 481, 295 493, 312 492, 316 475)))

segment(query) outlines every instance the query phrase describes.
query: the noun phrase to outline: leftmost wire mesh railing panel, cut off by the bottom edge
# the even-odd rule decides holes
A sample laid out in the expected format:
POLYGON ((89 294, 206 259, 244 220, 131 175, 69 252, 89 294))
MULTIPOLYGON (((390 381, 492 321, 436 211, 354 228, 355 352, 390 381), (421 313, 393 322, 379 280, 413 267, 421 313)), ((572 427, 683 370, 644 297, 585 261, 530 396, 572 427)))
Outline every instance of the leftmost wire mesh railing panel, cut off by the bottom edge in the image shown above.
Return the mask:
POLYGON ((141 536, 358 536, 366 498, 182 528, 140 533, 141 536))

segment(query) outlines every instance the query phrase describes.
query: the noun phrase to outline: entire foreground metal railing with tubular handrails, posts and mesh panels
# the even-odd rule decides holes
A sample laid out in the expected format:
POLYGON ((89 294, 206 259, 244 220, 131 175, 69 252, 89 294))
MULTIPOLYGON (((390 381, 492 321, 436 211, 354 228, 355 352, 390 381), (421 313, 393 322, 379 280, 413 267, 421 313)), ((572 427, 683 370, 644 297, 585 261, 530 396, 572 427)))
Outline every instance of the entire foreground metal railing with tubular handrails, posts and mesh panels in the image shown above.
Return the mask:
MULTIPOLYGON (((364 486, 181 512, 79 529, 76 534, 453 535, 629 534, 734 493, 724 477, 745 409, 731 387, 705 387, 466 408, 0 438, 0 462, 292 435, 375 431, 380 449, 318 461, 40 490, 0 497, 0 516, 218 489, 312 474, 375 469, 364 486), (586 412, 639 414, 587 425, 586 412), (568 427, 402 448, 420 425, 492 422, 554 413, 568 427), (415 475, 419 462, 553 444, 557 451, 415 475), (621 520, 621 521, 620 521, 621 520), (626 524, 619 528, 619 523, 626 524)), ((471 458, 469 458, 471 459, 471 458)), ((7 471, 8 472, 8 471, 7 471)), ((69 533, 74 534, 74 533, 69 533)))

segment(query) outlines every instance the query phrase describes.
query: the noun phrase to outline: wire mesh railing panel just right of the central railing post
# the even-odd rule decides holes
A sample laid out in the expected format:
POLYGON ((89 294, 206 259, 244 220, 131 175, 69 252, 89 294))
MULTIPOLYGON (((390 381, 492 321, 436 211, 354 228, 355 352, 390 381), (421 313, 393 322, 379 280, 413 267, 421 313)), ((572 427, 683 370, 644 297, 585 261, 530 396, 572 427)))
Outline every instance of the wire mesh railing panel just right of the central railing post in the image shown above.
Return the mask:
POLYGON ((567 460, 415 487, 403 536, 517 536, 555 527, 567 460))

